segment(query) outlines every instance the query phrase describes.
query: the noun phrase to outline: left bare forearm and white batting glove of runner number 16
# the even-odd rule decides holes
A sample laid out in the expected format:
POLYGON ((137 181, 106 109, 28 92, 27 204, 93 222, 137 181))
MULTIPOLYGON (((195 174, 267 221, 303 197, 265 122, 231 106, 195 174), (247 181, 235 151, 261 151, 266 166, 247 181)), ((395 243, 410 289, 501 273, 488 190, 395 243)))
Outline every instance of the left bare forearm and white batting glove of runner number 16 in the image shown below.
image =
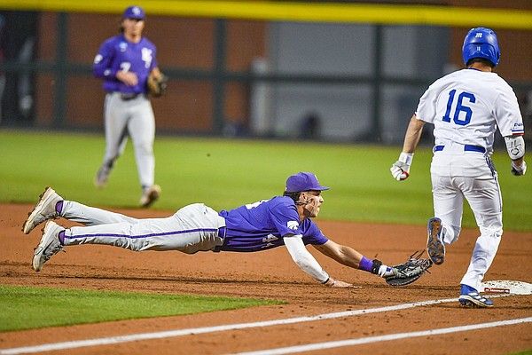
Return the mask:
POLYGON ((392 177, 395 180, 403 181, 410 176, 410 167, 414 158, 414 152, 418 146, 419 138, 421 138, 424 125, 425 122, 419 120, 416 114, 412 115, 404 136, 403 152, 399 154, 399 159, 390 168, 392 177))

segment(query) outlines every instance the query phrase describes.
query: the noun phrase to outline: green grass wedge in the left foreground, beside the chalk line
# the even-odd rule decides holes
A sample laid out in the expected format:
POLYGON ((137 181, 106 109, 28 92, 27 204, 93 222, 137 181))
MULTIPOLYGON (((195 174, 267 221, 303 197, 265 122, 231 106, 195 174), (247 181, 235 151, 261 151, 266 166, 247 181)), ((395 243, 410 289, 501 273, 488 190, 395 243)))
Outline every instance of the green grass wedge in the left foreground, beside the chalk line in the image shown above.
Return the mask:
POLYGON ((0 285, 0 332, 282 304, 220 296, 159 295, 0 285))

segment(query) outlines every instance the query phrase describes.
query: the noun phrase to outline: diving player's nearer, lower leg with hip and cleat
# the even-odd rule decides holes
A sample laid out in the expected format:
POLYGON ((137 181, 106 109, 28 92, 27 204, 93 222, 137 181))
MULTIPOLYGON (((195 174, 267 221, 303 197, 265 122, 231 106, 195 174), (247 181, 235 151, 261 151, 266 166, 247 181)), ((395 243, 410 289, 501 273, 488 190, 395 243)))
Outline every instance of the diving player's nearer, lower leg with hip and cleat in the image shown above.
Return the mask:
POLYGON ((223 244, 225 220, 214 209, 195 203, 166 218, 137 219, 135 223, 64 228, 48 221, 33 258, 40 271, 64 246, 103 244, 130 250, 178 250, 187 254, 212 250, 223 244))

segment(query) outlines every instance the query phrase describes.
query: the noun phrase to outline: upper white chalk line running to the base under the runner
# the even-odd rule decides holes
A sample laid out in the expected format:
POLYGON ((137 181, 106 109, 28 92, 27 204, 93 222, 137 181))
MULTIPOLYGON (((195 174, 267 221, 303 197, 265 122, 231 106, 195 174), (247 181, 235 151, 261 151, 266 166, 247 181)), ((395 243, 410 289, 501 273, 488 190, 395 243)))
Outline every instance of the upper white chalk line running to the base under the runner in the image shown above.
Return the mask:
MULTIPOLYGON (((494 296, 490 296, 490 298, 505 297, 505 296, 511 296, 511 294, 494 295, 494 296)), ((137 333, 137 334, 131 334, 131 335, 109 336, 109 337, 76 340, 76 341, 61 342, 61 343, 44 343, 41 345, 0 349, 0 355, 18 355, 18 354, 29 354, 29 353, 42 352, 42 351, 59 351, 59 350, 76 349, 76 348, 82 348, 82 347, 88 347, 88 346, 101 346, 101 345, 109 345, 109 344, 115 344, 115 343, 137 342, 141 340, 163 339, 163 338, 184 336, 184 335, 215 333, 215 332, 223 332, 223 331, 229 331, 229 330, 246 329, 246 328, 252 328, 252 327, 273 327, 273 326, 293 324, 293 323, 317 321, 317 320, 323 320, 323 319, 354 317, 354 316, 370 314, 370 313, 393 312, 393 311, 399 311, 399 310, 406 310, 406 309, 414 308, 414 307, 421 307, 421 306, 434 305, 434 304, 446 304, 446 303, 451 303, 451 302, 458 302, 458 297, 457 298, 444 298, 444 299, 439 299, 439 300, 420 301, 420 302, 413 302, 409 304, 395 304, 395 305, 389 305, 385 307, 368 308, 368 309, 355 310, 355 311, 324 313, 324 314, 318 314, 315 316, 295 317, 295 318, 287 318, 287 319, 272 319, 272 320, 264 320, 264 321, 251 322, 251 323, 226 324, 226 325, 215 326, 215 327, 194 327, 194 328, 186 328, 186 329, 166 330, 162 332, 153 332, 153 333, 137 333)))

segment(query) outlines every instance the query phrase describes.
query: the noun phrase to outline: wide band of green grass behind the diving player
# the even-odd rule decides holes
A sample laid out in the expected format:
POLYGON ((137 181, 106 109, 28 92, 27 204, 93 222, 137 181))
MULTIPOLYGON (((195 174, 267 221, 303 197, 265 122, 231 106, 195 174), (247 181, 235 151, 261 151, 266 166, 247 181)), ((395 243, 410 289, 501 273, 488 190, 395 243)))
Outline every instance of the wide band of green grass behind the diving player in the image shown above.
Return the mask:
MULTIPOLYGON (((35 202, 45 185, 68 200, 106 207, 136 207, 137 168, 129 142, 104 190, 92 179, 104 153, 103 135, 0 130, 0 200, 35 202)), ((420 147, 411 177, 389 173, 401 148, 221 138, 156 138, 154 209, 192 202, 232 209, 283 192, 286 177, 305 170, 324 185, 320 218, 424 225, 433 215, 430 148, 420 147)), ((531 176, 513 177, 505 150, 494 155, 504 199, 505 230, 532 231, 531 176)), ((463 225, 475 227, 466 205, 463 225)))

